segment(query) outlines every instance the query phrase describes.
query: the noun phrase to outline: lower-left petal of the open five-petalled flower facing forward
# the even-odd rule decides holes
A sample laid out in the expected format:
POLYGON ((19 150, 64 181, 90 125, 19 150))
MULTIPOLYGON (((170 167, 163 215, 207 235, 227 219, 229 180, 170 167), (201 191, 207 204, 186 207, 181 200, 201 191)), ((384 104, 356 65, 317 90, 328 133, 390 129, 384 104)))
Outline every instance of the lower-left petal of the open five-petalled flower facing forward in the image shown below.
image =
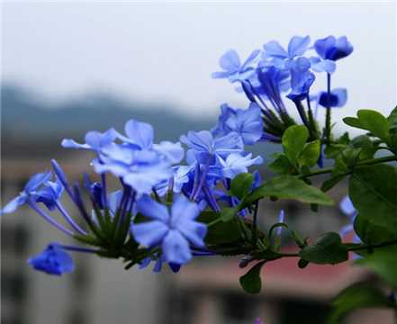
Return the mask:
POLYGON ((131 226, 133 237, 140 244, 153 247, 158 245, 168 232, 167 225, 159 220, 146 221, 131 226))

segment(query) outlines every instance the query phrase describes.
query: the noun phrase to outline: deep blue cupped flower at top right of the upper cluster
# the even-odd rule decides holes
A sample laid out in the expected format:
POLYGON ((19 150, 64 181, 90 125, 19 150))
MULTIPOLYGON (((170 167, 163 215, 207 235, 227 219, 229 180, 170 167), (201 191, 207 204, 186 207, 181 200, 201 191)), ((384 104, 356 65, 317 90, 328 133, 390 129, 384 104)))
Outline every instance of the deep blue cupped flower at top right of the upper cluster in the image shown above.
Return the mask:
POLYGON ((316 49, 320 58, 333 61, 346 58, 353 52, 353 46, 347 40, 346 36, 341 36, 338 39, 334 36, 329 36, 321 40, 316 40, 314 42, 314 49, 316 49))

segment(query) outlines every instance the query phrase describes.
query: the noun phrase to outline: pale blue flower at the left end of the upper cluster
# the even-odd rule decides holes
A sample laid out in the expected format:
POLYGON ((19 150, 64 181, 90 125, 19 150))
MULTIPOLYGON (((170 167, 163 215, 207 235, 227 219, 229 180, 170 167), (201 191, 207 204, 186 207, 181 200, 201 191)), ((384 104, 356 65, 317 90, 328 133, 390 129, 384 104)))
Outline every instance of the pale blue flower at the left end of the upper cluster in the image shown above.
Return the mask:
POLYGON ((219 65, 223 69, 221 72, 212 73, 212 78, 229 78, 230 82, 245 81, 255 73, 252 64, 258 57, 260 50, 254 50, 246 61, 241 65, 239 54, 234 49, 228 50, 221 56, 219 65))

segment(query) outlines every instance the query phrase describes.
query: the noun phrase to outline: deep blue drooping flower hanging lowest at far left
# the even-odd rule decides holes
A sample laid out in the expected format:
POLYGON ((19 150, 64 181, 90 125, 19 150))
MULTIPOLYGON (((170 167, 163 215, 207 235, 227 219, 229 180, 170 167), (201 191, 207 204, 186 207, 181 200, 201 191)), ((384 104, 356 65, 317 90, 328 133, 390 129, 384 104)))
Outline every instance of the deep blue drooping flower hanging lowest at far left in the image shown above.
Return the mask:
POLYGON ((40 255, 31 257, 28 263, 35 270, 49 275, 62 275, 75 269, 72 257, 58 244, 50 244, 40 255))

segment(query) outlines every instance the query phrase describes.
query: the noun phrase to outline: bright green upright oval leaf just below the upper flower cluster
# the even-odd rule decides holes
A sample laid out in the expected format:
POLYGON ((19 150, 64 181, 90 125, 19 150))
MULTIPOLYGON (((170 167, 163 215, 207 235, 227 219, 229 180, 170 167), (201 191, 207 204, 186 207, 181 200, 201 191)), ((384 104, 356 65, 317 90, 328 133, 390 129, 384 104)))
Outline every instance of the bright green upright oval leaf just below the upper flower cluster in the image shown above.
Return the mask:
POLYGON ((292 163, 296 163, 299 155, 309 139, 309 130, 302 125, 293 125, 284 131, 282 144, 284 154, 292 163))

